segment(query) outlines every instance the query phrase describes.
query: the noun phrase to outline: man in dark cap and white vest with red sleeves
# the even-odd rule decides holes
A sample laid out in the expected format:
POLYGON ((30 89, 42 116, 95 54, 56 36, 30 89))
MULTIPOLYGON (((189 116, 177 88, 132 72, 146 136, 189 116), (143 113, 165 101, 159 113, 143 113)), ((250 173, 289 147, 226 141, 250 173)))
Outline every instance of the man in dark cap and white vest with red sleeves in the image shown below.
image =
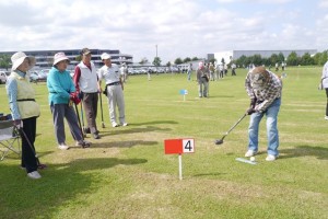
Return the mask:
POLYGON ((91 61, 91 50, 83 48, 81 56, 82 60, 75 67, 73 81, 83 103, 87 122, 86 132, 91 132, 94 139, 99 139, 99 131, 96 125, 99 92, 97 72, 94 64, 91 61))

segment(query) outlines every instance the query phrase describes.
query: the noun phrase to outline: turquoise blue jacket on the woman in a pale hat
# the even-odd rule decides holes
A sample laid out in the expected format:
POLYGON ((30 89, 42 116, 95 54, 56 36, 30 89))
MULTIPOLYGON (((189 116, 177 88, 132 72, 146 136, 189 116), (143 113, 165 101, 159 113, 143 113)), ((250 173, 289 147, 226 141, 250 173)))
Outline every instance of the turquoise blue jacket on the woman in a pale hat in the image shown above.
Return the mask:
POLYGON ((49 105, 52 104, 68 104, 70 101, 70 93, 75 92, 75 87, 70 72, 59 71, 52 67, 47 77, 47 87, 49 91, 49 105))

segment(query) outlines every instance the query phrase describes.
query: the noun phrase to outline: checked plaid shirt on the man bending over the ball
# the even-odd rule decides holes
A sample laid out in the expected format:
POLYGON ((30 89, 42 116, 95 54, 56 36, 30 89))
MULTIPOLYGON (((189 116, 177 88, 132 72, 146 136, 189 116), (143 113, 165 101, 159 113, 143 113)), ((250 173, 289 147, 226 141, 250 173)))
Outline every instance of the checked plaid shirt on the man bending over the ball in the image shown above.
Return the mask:
POLYGON ((271 71, 269 72, 269 81, 265 84, 265 87, 259 89, 254 89, 251 87, 249 72, 246 76, 245 80, 245 89, 250 99, 257 100, 257 105, 255 106, 255 111, 265 112, 271 103, 281 96, 282 82, 271 71))

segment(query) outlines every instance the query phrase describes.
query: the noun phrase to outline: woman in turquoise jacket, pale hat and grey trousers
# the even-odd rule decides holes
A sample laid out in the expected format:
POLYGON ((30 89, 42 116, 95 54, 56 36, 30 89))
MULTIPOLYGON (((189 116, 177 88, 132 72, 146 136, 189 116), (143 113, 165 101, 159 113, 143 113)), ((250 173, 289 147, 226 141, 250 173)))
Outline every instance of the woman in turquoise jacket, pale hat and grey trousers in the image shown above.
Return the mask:
POLYGON ((73 108, 73 104, 79 104, 80 100, 75 94, 75 87, 70 77, 67 66, 69 58, 65 53, 58 53, 54 57, 54 66, 47 77, 47 87, 49 91, 49 105, 52 113, 55 126, 55 136, 58 142, 58 148, 68 150, 66 143, 65 123, 63 118, 70 127, 75 146, 82 148, 90 147, 90 142, 85 141, 82 136, 81 127, 78 123, 78 117, 73 108))

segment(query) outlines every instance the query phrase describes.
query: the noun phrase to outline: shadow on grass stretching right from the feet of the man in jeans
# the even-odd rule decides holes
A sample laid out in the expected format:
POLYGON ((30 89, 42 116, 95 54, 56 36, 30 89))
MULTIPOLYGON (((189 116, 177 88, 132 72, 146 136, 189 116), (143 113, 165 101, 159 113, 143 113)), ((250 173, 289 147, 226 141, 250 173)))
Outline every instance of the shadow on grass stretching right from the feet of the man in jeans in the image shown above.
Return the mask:
POLYGON ((328 160, 328 148, 297 146, 292 149, 281 149, 279 159, 288 159, 295 157, 316 157, 319 160, 328 160))

